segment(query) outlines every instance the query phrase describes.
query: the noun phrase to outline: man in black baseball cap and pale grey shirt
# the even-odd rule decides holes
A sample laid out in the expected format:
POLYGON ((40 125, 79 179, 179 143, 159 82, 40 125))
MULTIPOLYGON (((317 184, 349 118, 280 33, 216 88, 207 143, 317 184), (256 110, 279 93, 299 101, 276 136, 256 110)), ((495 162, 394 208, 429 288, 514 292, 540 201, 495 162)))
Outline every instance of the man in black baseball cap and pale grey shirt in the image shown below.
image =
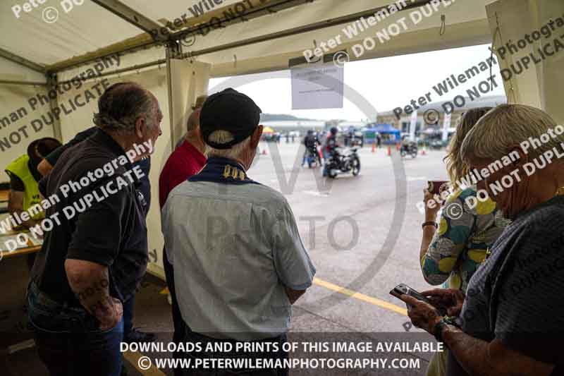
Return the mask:
MULTIPOLYGON (((200 113, 207 164, 176 186, 163 207, 185 342, 204 344, 201 352, 188 353, 192 358, 287 358, 281 344, 291 305, 315 274, 286 198, 247 176, 262 135, 260 113, 250 97, 233 89, 210 96, 200 113), (254 351, 203 351, 217 341, 230 341, 234 350, 245 341, 254 351)), ((248 371, 221 368, 196 374, 248 371)))

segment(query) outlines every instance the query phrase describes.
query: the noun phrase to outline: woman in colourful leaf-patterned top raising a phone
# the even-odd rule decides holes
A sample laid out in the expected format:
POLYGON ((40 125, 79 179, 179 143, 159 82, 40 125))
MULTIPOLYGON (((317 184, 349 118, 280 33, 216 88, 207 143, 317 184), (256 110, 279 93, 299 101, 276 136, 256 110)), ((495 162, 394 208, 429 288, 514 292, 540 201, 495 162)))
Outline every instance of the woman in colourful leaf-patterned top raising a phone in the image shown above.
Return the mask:
MULTIPOLYGON (((448 145, 445 161, 453 193, 443 205, 439 219, 436 216, 440 205, 429 204, 434 200, 433 195, 424 190, 425 220, 419 252, 423 277, 431 285, 443 284, 446 289, 457 289, 462 293, 466 292, 472 274, 484 262, 491 245, 509 224, 496 210, 495 202, 490 198, 479 200, 476 186, 459 186, 461 178, 470 180, 470 169, 460 157, 462 141, 489 110, 491 107, 467 111, 448 145)), ((427 375, 446 375, 446 359, 446 351, 435 353, 427 375)))

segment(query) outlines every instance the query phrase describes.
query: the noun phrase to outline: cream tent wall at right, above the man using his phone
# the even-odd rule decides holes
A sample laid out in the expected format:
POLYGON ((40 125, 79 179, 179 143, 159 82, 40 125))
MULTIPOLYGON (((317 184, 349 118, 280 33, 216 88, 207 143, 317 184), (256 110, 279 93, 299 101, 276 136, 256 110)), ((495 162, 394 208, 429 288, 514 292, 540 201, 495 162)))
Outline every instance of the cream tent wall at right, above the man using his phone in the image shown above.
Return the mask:
MULTIPOLYGON (((501 37, 496 37, 496 48, 509 41, 517 44, 534 30, 556 17, 564 17, 564 2, 561 0, 499 0, 487 6, 492 34, 499 25, 501 37)), ((560 31, 561 32, 561 31, 560 31)), ((560 35, 560 34, 558 34, 560 35)), ((537 49, 550 39, 541 38, 537 43, 527 45, 516 54, 507 54, 505 59, 498 59, 501 68, 510 68, 522 57, 537 54, 537 49)), ((499 54, 498 54, 499 56, 499 54)), ((564 123, 564 107, 560 92, 564 86, 564 53, 560 51, 549 56, 542 63, 531 63, 529 69, 519 75, 513 74, 505 82, 505 93, 509 103, 528 104, 544 109, 557 123, 564 123)))

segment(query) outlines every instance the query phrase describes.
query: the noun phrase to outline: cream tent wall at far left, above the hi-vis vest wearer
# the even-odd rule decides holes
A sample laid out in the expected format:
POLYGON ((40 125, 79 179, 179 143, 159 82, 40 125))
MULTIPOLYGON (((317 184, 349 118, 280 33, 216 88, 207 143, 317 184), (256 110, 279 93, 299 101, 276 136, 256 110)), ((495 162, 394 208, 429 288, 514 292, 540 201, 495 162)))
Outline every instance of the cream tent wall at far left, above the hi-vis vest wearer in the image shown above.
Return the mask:
MULTIPOLYGON (((0 57, 0 80, 44 83, 45 77, 42 73, 0 57)), ((43 123, 40 120, 42 116, 49 121, 49 104, 42 106, 37 103, 32 107, 28 102, 38 94, 47 95, 47 88, 0 83, 0 182, 9 180, 4 168, 13 159, 25 154, 30 142, 54 136, 52 126, 39 125, 39 121, 43 123)))

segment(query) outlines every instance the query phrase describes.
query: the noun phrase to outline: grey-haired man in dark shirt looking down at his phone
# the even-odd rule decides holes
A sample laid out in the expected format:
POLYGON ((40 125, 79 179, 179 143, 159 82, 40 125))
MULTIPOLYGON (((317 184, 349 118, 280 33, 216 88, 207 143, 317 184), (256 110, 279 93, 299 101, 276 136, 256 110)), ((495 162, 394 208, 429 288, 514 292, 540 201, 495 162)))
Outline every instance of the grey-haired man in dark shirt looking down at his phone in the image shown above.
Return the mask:
POLYGON ((414 325, 450 349, 450 376, 564 375, 564 135, 558 130, 544 111, 508 104, 489 111, 462 142, 462 159, 480 175, 478 189, 513 222, 486 252, 466 296, 427 291, 433 305, 403 296, 414 325), (533 139, 546 142, 523 143, 533 139), (505 158, 515 152, 518 158, 505 158), (503 166, 492 171, 498 160, 503 166), (458 317, 441 317, 437 307, 458 317))

